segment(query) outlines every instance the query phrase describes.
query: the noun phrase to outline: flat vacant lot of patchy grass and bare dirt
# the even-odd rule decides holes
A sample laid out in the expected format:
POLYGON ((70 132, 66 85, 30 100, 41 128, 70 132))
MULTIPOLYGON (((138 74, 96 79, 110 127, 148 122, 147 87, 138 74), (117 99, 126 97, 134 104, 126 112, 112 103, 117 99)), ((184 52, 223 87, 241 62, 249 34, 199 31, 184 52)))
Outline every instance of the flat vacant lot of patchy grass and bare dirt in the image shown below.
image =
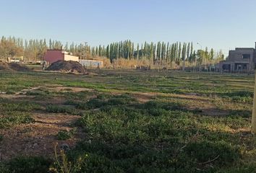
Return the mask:
POLYGON ((255 172, 253 86, 231 74, 0 71, 0 172, 255 172))

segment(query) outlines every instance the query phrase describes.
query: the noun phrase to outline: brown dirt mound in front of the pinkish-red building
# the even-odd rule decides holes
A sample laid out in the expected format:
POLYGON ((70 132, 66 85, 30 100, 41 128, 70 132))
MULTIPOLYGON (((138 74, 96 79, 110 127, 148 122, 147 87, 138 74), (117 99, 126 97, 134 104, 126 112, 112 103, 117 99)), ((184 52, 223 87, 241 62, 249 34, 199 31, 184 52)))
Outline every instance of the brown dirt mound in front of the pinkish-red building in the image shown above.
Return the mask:
POLYGON ((87 74, 85 68, 76 61, 56 61, 46 68, 47 71, 61 71, 63 73, 87 74))

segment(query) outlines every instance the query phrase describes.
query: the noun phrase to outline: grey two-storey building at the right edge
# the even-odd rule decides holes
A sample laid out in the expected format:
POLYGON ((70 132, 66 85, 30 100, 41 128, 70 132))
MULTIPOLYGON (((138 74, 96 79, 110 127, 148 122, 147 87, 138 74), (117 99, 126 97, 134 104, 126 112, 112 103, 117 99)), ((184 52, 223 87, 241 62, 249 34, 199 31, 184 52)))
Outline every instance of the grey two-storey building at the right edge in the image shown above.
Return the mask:
POLYGON ((229 57, 226 61, 219 63, 219 69, 223 72, 252 72, 256 63, 255 48, 236 48, 229 50, 229 57))

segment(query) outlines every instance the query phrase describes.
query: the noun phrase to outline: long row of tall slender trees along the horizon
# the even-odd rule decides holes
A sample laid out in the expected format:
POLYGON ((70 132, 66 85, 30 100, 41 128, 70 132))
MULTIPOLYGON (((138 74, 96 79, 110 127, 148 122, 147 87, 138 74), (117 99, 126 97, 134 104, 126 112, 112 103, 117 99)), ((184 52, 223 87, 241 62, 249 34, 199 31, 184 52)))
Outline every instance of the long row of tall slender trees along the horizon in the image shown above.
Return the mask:
POLYGON ((133 43, 131 40, 111 43, 106 46, 95 46, 85 44, 63 45, 57 40, 23 40, 17 37, 1 37, 0 58, 7 59, 13 56, 24 56, 25 61, 39 61, 43 59, 47 49, 61 49, 73 53, 81 58, 106 57, 110 61, 124 58, 127 60, 147 60, 150 64, 161 64, 164 66, 184 66, 216 63, 223 60, 223 53, 216 52, 213 48, 208 50, 195 50, 193 43, 133 43), (86 54, 86 55, 85 55, 86 54))

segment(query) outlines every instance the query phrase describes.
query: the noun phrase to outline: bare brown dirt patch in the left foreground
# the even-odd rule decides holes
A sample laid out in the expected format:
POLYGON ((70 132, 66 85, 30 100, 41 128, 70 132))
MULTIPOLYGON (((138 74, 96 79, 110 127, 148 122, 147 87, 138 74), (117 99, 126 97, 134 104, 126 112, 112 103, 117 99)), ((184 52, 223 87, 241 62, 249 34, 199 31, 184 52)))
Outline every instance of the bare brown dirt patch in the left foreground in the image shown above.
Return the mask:
POLYGON ((72 123, 78 120, 79 116, 34 113, 33 117, 35 123, 17 125, 0 131, 4 136, 0 142, 0 161, 17 155, 53 156, 55 143, 58 142, 59 146, 67 143, 72 148, 77 141, 85 137, 78 129, 74 138, 66 141, 56 139, 59 130, 71 130, 72 123))

